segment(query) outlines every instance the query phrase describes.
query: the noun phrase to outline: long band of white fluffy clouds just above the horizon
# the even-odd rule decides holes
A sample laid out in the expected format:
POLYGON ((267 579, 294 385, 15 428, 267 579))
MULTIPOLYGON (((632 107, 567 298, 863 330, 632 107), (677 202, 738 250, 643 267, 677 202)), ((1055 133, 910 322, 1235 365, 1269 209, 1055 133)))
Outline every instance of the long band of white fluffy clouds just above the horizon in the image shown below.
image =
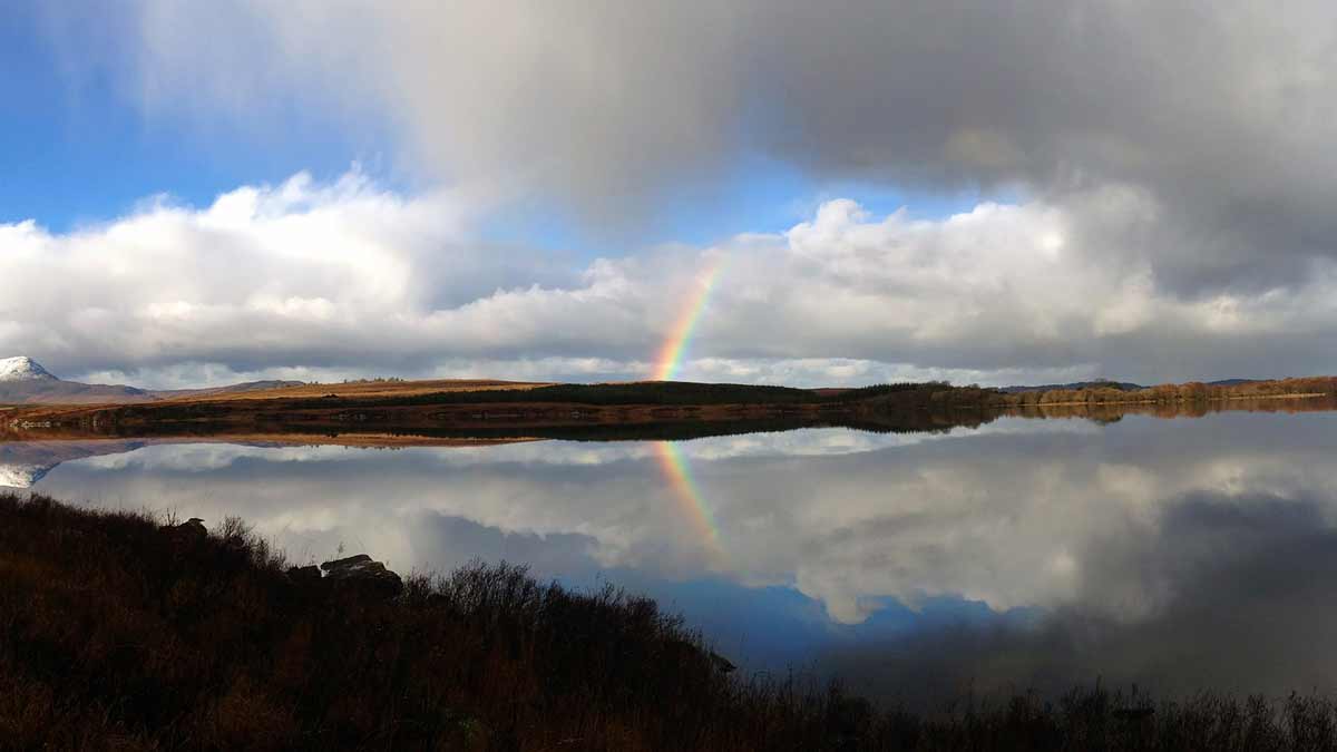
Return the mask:
POLYGON ((650 372, 721 269, 683 376, 869 383, 1306 373, 1337 268, 1187 296, 1138 258, 1161 206, 1107 187, 943 219, 829 201, 779 234, 563 268, 473 236, 480 209, 358 171, 202 209, 147 202, 70 233, 0 225, 0 352, 163 385, 369 373, 586 380, 650 372), (1174 352, 1169 360, 1163 353, 1174 352))

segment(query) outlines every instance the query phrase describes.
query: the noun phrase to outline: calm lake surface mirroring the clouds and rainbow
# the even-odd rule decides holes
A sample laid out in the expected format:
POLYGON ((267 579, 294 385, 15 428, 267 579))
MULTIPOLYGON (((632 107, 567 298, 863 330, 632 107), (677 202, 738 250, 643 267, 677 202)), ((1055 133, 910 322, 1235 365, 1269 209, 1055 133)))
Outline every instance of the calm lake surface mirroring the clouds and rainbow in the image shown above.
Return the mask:
POLYGON ((1337 413, 1217 413, 677 443, 0 444, 0 482, 238 515, 297 559, 614 582, 746 670, 913 704, 1098 677, 1334 689, 1334 451, 1337 413))

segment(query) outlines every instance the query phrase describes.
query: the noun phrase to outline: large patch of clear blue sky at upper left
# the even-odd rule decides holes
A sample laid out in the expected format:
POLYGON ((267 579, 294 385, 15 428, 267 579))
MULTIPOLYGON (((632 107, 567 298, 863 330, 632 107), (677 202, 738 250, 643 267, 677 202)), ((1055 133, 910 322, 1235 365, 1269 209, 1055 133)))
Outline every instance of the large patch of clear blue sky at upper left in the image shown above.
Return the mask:
MULTIPOLYGON (((154 112, 108 68, 71 71, 23 3, 0 21, 0 222, 53 231, 112 219, 167 194, 207 206, 242 185, 309 171, 333 179, 353 162, 377 167, 376 126, 333 127, 297 102, 258 124, 154 112), (118 83, 119 80, 119 83, 118 83)), ((273 103, 270 103, 273 104, 273 103)))

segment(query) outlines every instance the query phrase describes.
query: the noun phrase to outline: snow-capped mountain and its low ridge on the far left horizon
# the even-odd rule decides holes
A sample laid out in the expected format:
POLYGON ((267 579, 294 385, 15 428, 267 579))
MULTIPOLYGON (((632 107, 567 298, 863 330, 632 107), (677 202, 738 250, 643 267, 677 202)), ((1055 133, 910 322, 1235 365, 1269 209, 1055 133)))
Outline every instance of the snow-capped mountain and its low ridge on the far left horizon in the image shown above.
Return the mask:
POLYGON ((140 389, 124 384, 66 381, 27 356, 0 359, 0 404, 140 403, 297 387, 301 381, 247 381, 203 389, 140 389))

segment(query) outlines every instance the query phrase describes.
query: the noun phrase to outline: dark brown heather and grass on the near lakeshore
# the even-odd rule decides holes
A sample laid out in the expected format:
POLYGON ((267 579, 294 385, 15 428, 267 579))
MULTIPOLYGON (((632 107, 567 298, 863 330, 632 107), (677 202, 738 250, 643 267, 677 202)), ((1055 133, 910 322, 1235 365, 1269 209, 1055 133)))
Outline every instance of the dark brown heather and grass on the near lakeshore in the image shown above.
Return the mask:
POLYGON ((229 521, 0 495, 5 749, 1334 749, 1337 707, 1100 688, 916 716, 730 673, 655 603, 512 566, 334 586, 229 521))

